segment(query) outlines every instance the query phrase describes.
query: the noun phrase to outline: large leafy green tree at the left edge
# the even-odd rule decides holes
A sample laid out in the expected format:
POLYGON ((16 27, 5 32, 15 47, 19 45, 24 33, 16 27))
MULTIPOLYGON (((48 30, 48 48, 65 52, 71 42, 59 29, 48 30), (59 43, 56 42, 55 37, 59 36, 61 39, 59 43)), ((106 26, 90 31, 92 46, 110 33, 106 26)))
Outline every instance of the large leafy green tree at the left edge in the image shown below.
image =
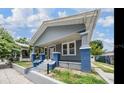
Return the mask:
POLYGON ((0 27, 0 58, 9 58, 13 51, 18 52, 19 46, 15 44, 13 37, 0 27))

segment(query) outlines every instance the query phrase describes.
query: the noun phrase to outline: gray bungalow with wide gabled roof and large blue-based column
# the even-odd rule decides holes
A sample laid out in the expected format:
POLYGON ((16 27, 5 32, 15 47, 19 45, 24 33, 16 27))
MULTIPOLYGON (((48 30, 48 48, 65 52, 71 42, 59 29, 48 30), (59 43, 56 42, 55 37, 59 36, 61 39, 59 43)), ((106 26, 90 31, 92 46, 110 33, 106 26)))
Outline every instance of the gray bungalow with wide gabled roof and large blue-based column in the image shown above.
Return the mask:
MULTIPOLYGON (((60 53, 61 61, 80 62, 82 71, 90 71, 89 42, 100 10, 44 21, 30 40, 33 49, 43 48, 52 59, 60 53)), ((33 52, 34 52, 33 50, 33 52)))

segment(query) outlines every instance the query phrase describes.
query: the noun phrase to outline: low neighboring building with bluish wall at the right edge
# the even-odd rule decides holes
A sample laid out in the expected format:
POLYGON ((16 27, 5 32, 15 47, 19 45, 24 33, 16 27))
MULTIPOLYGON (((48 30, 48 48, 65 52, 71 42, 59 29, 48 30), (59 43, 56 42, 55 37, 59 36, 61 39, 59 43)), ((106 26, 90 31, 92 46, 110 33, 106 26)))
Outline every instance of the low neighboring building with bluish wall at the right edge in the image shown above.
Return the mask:
POLYGON ((96 56, 96 61, 105 62, 108 64, 114 64, 114 51, 105 52, 102 55, 96 56))

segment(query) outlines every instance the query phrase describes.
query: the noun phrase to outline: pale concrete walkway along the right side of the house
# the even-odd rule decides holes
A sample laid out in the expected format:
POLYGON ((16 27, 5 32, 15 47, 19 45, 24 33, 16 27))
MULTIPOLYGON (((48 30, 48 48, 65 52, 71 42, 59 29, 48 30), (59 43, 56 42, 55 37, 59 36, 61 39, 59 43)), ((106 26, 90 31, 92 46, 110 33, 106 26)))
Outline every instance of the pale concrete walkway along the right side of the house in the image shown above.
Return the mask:
POLYGON ((93 63, 91 63, 92 67, 94 68, 94 70, 105 80, 107 81, 109 84, 114 84, 114 74, 113 73, 107 73, 104 72, 103 70, 101 70, 100 68, 98 68, 96 65, 94 65, 93 63))

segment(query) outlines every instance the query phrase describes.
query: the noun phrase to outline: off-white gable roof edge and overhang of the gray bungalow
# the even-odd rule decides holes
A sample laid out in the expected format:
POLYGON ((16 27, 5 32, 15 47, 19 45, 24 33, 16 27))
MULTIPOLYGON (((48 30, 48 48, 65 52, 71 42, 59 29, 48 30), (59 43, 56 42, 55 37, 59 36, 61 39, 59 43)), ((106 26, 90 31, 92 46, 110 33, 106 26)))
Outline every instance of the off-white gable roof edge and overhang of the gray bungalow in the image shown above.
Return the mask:
POLYGON ((39 29, 37 30, 37 32, 31 38, 29 44, 34 45, 34 43, 43 34, 43 32, 46 30, 47 27, 60 26, 60 25, 83 24, 84 23, 86 25, 86 29, 93 29, 95 25, 92 25, 92 28, 91 28, 89 26, 91 22, 87 21, 87 19, 91 18, 91 17, 95 17, 95 19, 97 19, 98 15, 99 15, 99 11, 100 10, 97 9, 97 10, 93 10, 93 11, 89 11, 89 12, 80 13, 77 15, 72 15, 72 16, 68 16, 68 17, 44 21, 42 23, 42 25, 39 27, 39 29))

